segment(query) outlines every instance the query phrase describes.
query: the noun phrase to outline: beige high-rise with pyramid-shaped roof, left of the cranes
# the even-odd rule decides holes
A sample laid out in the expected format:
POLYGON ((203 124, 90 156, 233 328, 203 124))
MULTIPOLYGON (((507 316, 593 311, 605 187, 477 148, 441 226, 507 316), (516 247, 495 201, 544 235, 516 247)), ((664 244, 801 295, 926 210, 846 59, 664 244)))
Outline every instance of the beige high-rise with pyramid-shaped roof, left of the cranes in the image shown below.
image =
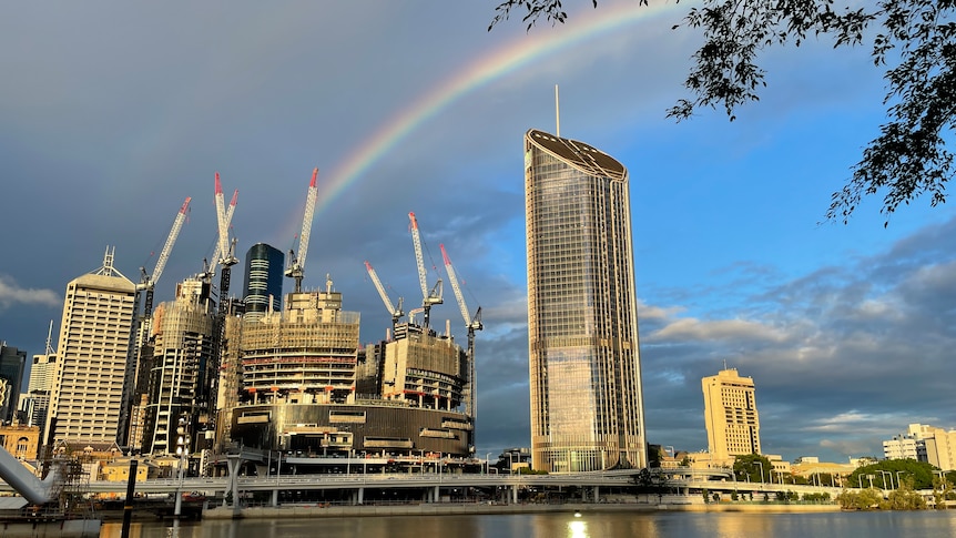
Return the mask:
POLYGON ((44 428, 54 449, 116 443, 135 296, 136 285, 113 268, 109 248, 102 267, 67 285, 44 428))

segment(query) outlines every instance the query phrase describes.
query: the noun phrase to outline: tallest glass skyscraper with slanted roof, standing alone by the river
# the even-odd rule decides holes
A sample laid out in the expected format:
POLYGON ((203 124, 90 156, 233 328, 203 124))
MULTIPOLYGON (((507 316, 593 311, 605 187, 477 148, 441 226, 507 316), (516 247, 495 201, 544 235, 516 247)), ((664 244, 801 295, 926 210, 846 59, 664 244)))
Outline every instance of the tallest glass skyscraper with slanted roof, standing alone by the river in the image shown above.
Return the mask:
POLYGON ((628 171, 525 134, 531 465, 647 466, 628 171))

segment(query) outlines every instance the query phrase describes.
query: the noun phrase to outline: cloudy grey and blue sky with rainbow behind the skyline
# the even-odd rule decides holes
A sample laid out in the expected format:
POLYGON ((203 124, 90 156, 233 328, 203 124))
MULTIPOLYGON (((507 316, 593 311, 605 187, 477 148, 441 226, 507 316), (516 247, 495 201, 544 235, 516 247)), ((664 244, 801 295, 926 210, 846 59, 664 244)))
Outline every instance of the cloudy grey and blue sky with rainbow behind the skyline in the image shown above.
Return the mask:
MULTIPOLYGON (((701 43, 672 29, 690 4, 581 0, 565 24, 489 32, 497 3, 0 8, 0 341, 43 353, 52 321, 55 348, 68 282, 106 247, 138 281, 191 196, 156 285, 172 300, 213 255, 216 172, 240 191, 241 261, 297 246, 317 166, 303 287, 329 275, 363 342, 383 338, 364 262, 393 301, 420 301, 414 212, 429 280, 444 244, 481 307, 476 453, 527 447, 521 140, 560 125, 630 173, 650 443, 708 448, 700 379, 724 365, 753 378, 763 450, 784 459, 882 457, 908 424, 956 428, 953 206, 916 200, 884 226, 877 196, 824 219, 885 121, 865 49, 767 49, 759 102, 677 123, 701 43)), ((241 263, 233 291, 242 278, 241 263)), ((449 287, 433 323, 464 344, 449 287)))

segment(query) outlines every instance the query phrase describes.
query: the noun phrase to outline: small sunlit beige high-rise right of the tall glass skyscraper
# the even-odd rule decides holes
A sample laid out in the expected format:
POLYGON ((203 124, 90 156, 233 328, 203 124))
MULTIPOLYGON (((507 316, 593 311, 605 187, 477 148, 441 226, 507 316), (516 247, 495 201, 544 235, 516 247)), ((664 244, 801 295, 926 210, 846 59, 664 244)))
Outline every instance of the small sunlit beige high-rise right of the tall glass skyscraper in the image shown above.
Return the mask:
POLYGON ((708 449, 713 459, 761 454, 760 418, 752 377, 724 368, 701 380, 708 449))

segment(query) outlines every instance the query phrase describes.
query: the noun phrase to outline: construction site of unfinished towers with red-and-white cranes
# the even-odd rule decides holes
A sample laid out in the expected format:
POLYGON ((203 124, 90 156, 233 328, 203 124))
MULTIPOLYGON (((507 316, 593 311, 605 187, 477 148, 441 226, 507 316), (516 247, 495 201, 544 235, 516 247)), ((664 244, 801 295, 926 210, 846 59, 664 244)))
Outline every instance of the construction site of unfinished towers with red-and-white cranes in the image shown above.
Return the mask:
MULTIPOLYGON (((391 326, 385 339, 363 345, 360 314, 343 308, 330 276, 324 288, 302 287, 317 174, 316 169, 306 191, 298 248, 288 252, 284 267, 264 261, 255 265, 256 277, 275 282, 281 272, 293 280, 294 290, 282 300, 268 290, 267 300, 260 297, 248 316, 244 298, 253 292, 244 290, 233 298, 230 290, 232 267, 240 263, 236 240, 230 235, 238 192, 226 204, 218 173, 213 262, 204 262, 200 274, 176 285, 172 301, 153 308, 155 284, 191 199, 183 203, 155 267, 142 268, 135 286, 116 439, 124 453, 175 455, 191 475, 213 473, 213 461, 237 448, 323 459, 358 454, 401 459, 474 456, 474 349, 475 333, 482 328, 480 307, 474 314, 468 309, 444 245, 444 275, 428 275, 418 222, 409 213, 420 306, 407 314, 401 298, 396 306, 366 262, 391 326), (446 282, 461 313, 465 345, 452 337, 450 323, 440 331, 431 326, 431 307, 444 303, 446 282)), ((252 287, 250 278, 246 275, 246 287, 252 287)))

